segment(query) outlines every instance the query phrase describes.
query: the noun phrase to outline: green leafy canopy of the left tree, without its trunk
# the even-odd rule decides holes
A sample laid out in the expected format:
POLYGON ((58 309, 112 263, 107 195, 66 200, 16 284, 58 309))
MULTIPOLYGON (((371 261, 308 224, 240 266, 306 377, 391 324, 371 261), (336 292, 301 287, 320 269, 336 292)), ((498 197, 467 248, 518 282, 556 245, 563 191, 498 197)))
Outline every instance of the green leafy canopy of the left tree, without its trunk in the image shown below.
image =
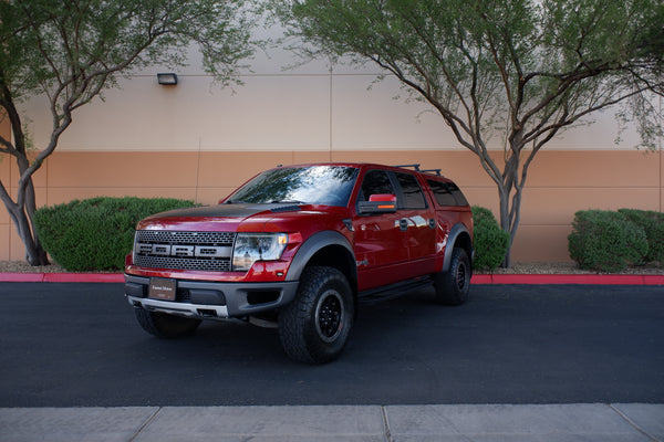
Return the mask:
MULTIPOLYGON (((0 2, 0 84, 13 99, 96 95, 121 72, 185 65, 197 44, 206 70, 235 75, 253 52, 245 0, 7 0, 0 2), (60 91, 63 85, 72 91, 60 91)), ((74 105, 77 101, 74 102, 74 105)), ((71 104, 66 104, 69 106, 71 104)))

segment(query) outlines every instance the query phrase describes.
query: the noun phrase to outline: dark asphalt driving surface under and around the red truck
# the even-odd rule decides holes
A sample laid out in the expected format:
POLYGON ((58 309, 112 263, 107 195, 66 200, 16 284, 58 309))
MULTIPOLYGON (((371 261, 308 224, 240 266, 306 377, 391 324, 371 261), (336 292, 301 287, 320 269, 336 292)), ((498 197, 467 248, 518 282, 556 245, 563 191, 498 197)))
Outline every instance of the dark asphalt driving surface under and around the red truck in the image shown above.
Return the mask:
POLYGON ((121 284, 0 284, 0 407, 664 403, 664 290, 476 285, 363 305, 341 359, 290 361, 277 330, 159 340, 121 284))

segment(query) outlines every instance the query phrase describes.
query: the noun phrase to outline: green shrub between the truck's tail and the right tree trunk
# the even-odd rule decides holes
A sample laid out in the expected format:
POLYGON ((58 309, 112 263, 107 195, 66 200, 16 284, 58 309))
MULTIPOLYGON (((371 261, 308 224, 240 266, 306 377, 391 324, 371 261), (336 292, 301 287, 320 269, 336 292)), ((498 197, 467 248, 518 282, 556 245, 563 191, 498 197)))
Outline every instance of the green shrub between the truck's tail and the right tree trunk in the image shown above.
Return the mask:
POLYGON ((476 269, 492 270, 505 261, 509 246, 509 233, 500 229, 489 209, 473 207, 473 236, 476 269))

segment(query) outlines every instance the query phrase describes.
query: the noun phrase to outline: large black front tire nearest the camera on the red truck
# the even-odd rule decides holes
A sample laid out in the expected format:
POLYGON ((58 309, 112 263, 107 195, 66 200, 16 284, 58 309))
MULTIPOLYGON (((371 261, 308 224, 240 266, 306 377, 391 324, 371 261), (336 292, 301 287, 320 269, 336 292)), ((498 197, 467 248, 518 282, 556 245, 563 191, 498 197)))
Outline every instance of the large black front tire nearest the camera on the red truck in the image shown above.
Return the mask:
POLYGON ((279 337, 286 354, 307 364, 325 364, 342 352, 353 326, 351 286, 333 267, 307 267, 293 302, 279 313, 279 337))

